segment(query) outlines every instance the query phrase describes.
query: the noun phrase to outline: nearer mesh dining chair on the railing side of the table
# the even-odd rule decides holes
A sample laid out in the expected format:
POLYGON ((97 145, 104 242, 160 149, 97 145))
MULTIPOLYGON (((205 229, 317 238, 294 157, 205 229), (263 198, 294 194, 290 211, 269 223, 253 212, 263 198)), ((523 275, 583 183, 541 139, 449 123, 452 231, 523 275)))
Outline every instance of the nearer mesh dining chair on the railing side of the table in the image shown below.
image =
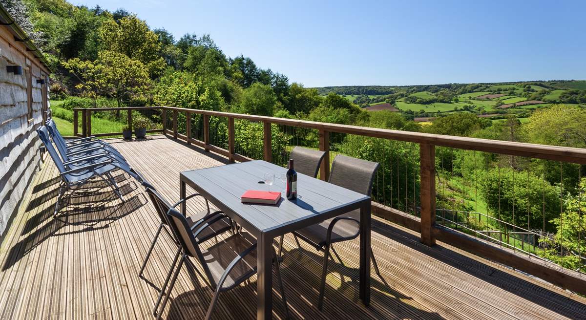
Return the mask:
MULTIPOLYGON (((332 162, 329 182, 362 193, 363 195, 370 196, 370 193, 372 192, 373 178, 378 168, 379 164, 377 162, 352 158, 345 155, 337 155, 332 162)), ((299 229, 293 232, 293 234, 304 240, 306 243, 314 246, 316 250, 323 250, 325 252, 325 256, 323 257, 322 282, 319 289, 318 303, 318 309, 321 310, 326 275, 328 273, 329 251, 330 249, 333 250, 333 243, 352 240, 360 235, 360 210, 353 210, 338 217, 305 227, 304 229, 299 229)), ((374 270, 380 275, 379 267, 374 259, 374 254, 372 254, 372 247, 370 248, 370 251, 374 270)))

